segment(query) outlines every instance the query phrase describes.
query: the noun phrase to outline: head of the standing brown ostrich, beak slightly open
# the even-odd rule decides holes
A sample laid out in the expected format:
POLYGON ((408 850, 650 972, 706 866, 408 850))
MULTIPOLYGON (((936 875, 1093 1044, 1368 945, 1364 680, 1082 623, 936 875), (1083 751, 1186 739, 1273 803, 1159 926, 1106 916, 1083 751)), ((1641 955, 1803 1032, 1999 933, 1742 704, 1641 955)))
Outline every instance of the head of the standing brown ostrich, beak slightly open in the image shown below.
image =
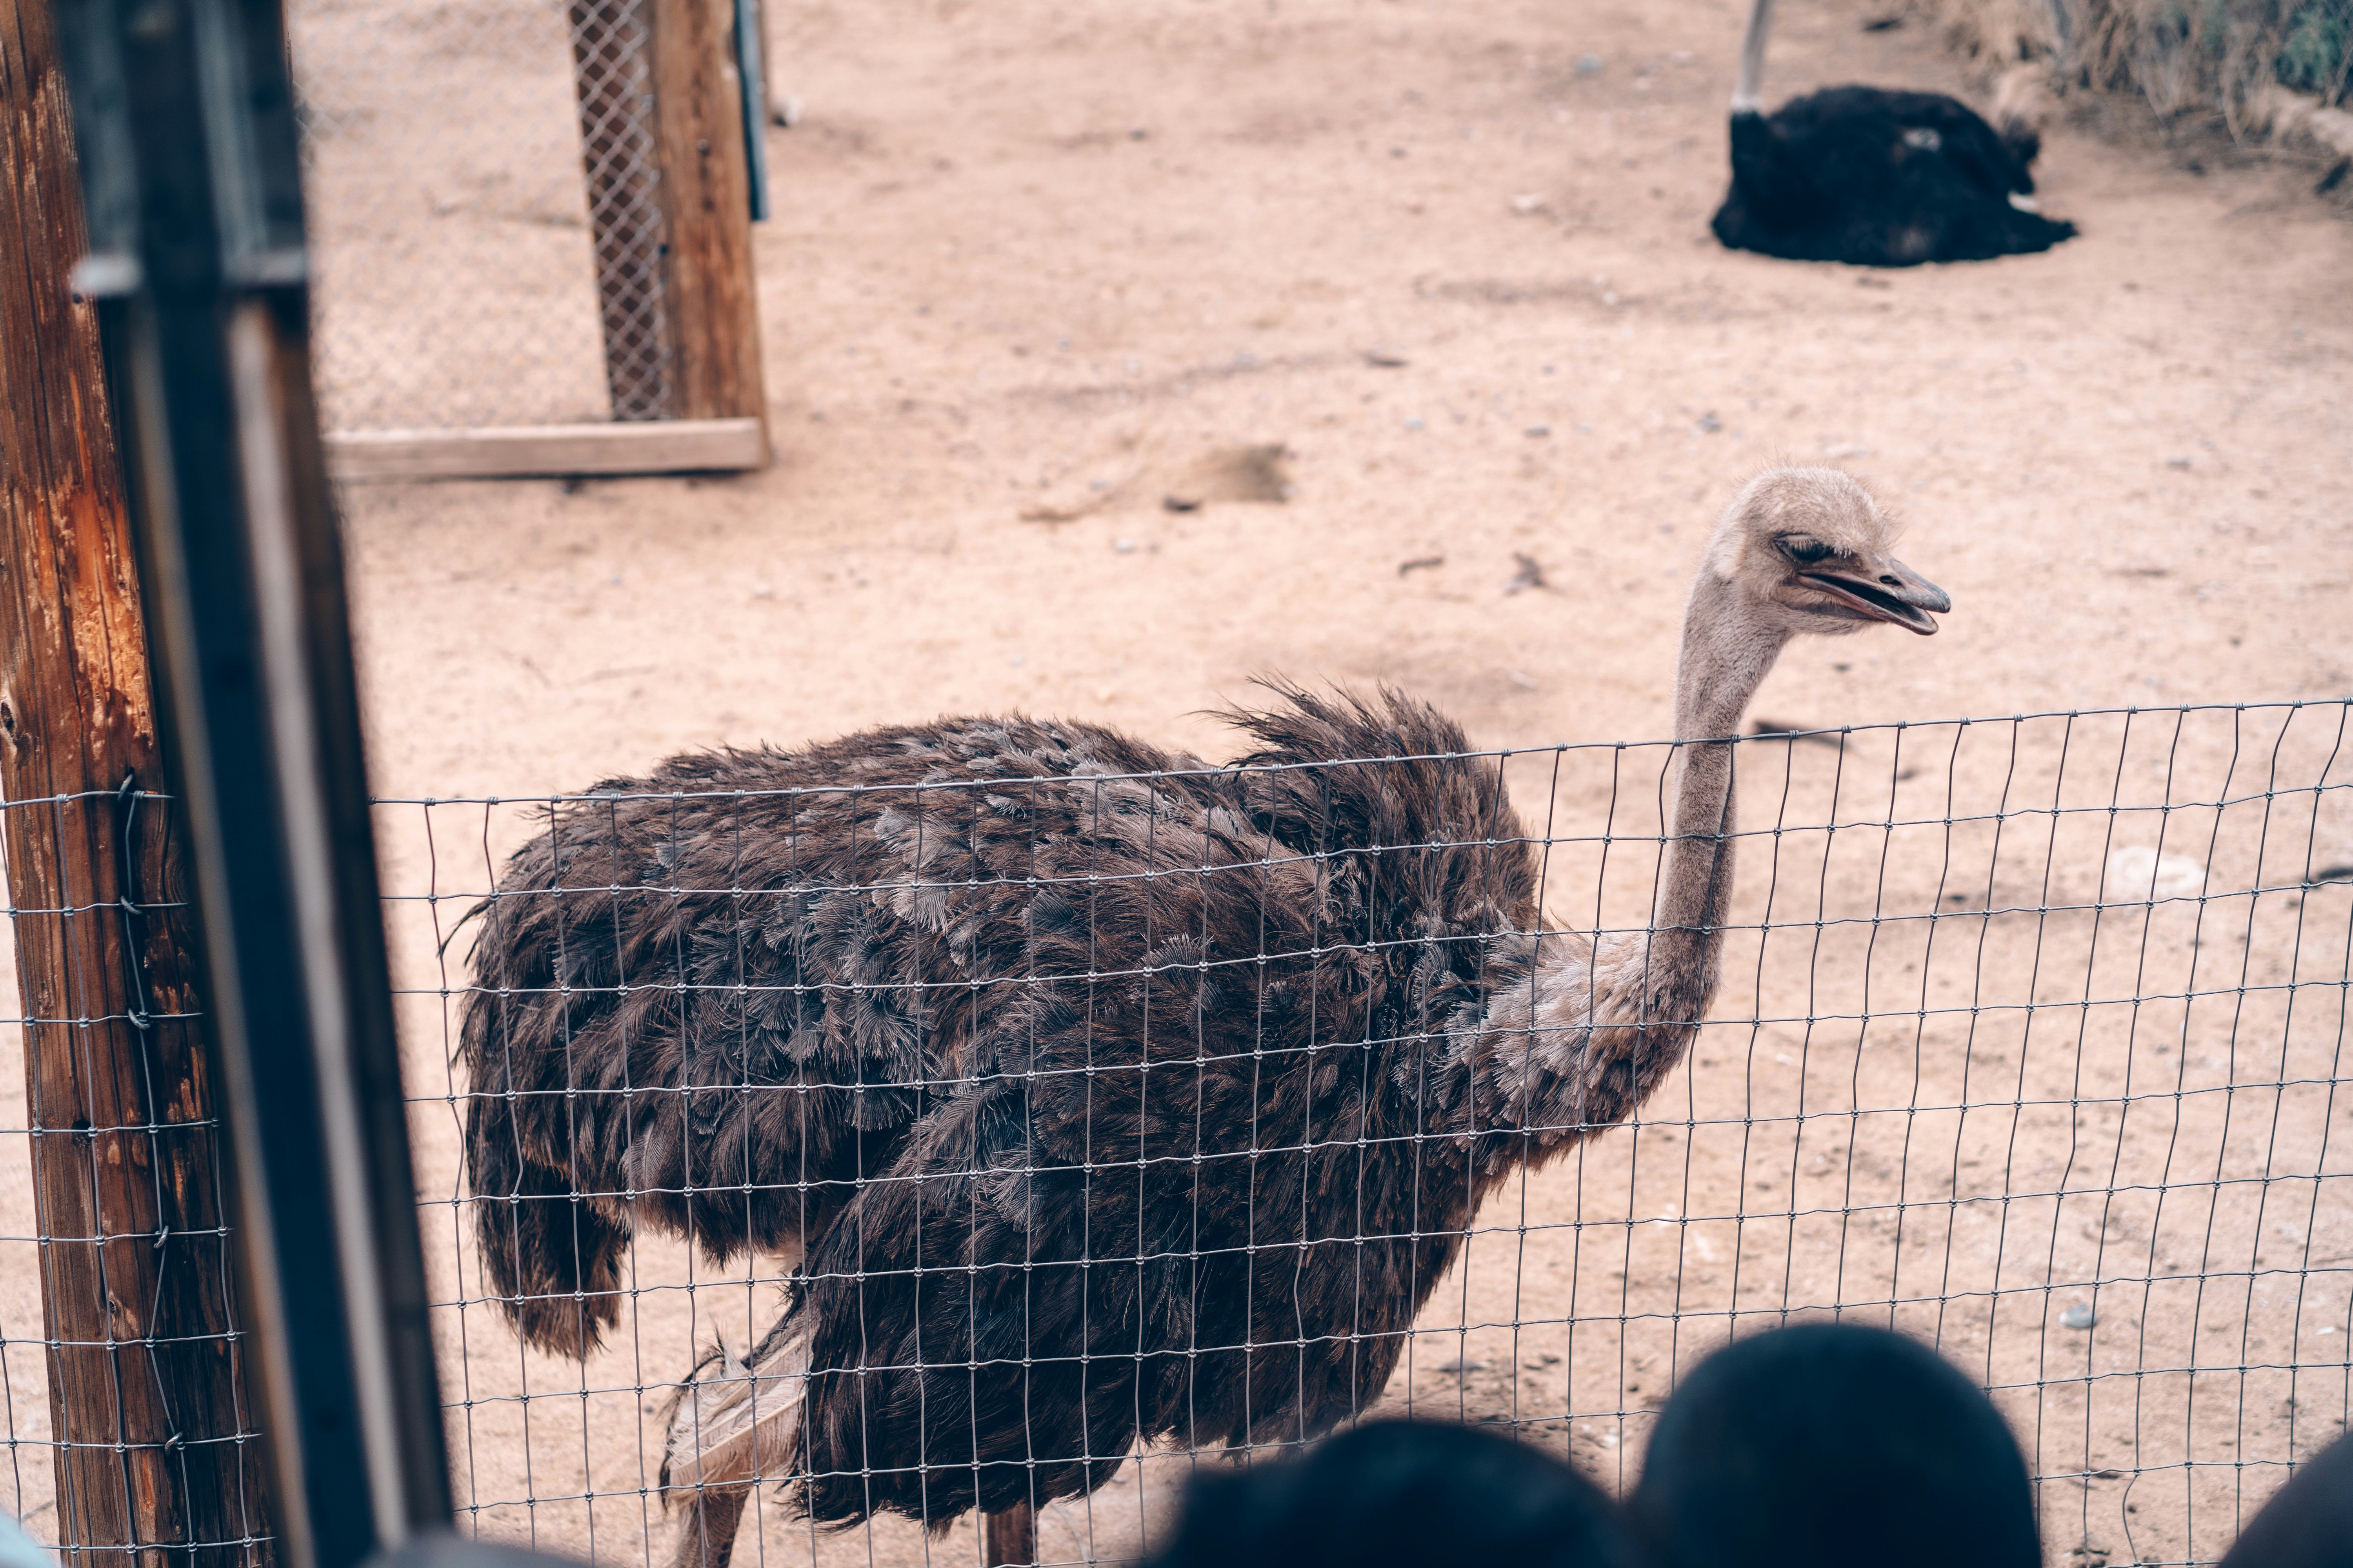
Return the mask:
POLYGON ((1875 621, 1934 635, 1953 599, 1894 557, 1897 527, 1835 468, 1772 468, 1741 487, 1708 541, 1701 583, 1781 639, 1859 632, 1875 621))

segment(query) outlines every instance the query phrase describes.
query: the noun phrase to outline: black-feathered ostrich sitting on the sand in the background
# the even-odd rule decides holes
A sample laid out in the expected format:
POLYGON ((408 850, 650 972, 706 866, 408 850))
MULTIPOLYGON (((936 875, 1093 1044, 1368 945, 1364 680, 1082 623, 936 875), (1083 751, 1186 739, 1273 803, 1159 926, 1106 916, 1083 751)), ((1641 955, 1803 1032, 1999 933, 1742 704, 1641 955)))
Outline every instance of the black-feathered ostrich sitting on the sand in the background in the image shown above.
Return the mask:
POLYGON ((2019 108, 2002 129, 1939 92, 1828 87, 1760 113, 1774 0, 1751 0, 1732 92, 1729 249, 1788 261, 1918 266, 2047 252, 2073 223, 2033 212, 2040 150, 2019 108))

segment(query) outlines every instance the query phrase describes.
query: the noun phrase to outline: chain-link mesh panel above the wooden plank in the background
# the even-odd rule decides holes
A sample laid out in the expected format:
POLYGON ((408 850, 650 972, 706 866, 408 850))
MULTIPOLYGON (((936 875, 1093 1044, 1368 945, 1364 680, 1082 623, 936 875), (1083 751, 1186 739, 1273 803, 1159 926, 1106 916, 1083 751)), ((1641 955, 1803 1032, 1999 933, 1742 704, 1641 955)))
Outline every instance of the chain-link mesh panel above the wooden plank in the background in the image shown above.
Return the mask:
POLYGON ((294 0, 329 430, 664 418, 645 0, 294 0))

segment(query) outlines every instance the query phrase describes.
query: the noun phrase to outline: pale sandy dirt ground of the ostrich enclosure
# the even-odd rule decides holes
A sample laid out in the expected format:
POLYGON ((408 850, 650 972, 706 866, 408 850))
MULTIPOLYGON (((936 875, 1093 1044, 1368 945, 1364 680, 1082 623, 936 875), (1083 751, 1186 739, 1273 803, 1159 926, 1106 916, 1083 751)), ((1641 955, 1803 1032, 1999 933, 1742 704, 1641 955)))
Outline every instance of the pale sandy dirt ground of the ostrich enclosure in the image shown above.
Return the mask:
MULTIPOLYGON (((1793 649, 1762 715, 2353 689, 2353 226, 2301 167, 2167 150, 2129 113, 2099 136, 2061 125, 2045 209, 2080 240, 1859 273, 1725 254, 1706 233, 1732 0, 769 9, 779 87, 805 103, 769 134, 779 214, 758 240, 779 461, 348 491, 384 797, 579 790, 680 748, 955 710, 1087 717, 1219 757, 1202 710, 1254 672, 1395 682, 1480 745, 1649 741, 1697 543, 1748 473, 1786 458, 1866 477, 1955 611, 1934 639, 1793 649)), ((1920 28, 1861 21, 1845 0, 1788 7, 1769 96, 1967 92, 1920 28)), ((2247 785, 2233 757, 2249 745, 2285 759, 2273 783, 2341 783, 2311 724, 2198 719, 2155 752, 2122 722, 2087 733, 2122 759, 2127 783, 2101 788, 2174 806, 2247 785)), ((1986 809, 2000 733, 2040 778, 2061 731, 1932 729, 1913 773, 1889 731, 1845 755, 1781 748, 1755 788, 1781 790, 1793 825, 1925 827, 1986 809)), ((1609 792, 1614 769, 1654 780, 1657 755, 1614 757, 1515 764, 1522 811, 1551 797, 1562 839, 1657 832, 1609 792)), ((2158 844, 2165 813, 2101 827, 2082 788, 2052 771, 2045 797, 2089 816, 2031 851, 1849 832, 1835 844, 1864 849, 1840 860, 1819 832, 1751 860, 1744 907, 1772 931, 1734 954, 1748 980, 1718 1006, 1746 1023, 1704 1037, 1654 1124, 1489 1204, 1391 1403, 1513 1420, 1619 1486, 1675 1368, 1739 1314, 1878 1302, 2002 1392, 2049 1476, 2054 1563, 2219 1556, 2280 1460, 2344 1425, 2353 1124, 2329 1093, 2341 1025, 2200 1011, 2198 994, 2341 980, 2346 898, 2315 893, 2297 922, 2247 891, 2292 867, 2261 823, 2209 811, 2184 830, 2247 891, 2238 983, 2200 969, 2209 929, 2146 910, 2127 943, 2141 969, 2104 969, 2115 914, 2033 910, 2097 900, 2113 849, 2158 844), (1977 919, 1774 945, 1833 907, 1948 898, 1977 919), (1946 1009, 1944 1034, 1904 1013, 1908 1037, 1875 1039, 1873 985, 1946 1009), (2068 985, 2191 999, 2158 1030, 2148 1006, 1953 1023, 2068 985), (1847 1023, 1802 1023, 1828 1013, 1847 1023), (1937 1110, 1981 1105, 1993 1124, 1937 1110), (2193 1178, 2207 1197, 2167 1211, 2193 1178), (2266 1253, 2275 1227, 2301 1251, 2266 1253), (2094 1286, 2118 1331, 2054 1331, 2094 1286), (2235 1291, 2226 1309, 2217 1288, 2235 1291)), ((2353 860, 2353 823, 2329 811, 2313 797, 2287 839, 2353 860)), ((581 1368, 515 1347, 464 1262, 445 992, 466 973, 433 938, 525 827, 480 804, 388 804, 379 825, 466 1519, 661 1559, 666 1385, 713 1335, 741 1347, 765 1324, 774 1267, 713 1276, 640 1246, 614 1349, 581 1368)), ((1562 849, 1560 884, 1598 877, 1586 849, 1562 849)), ((1645 884, 1640 863, 1614 875, 1645 884)), ((1584 898, 1588 922, 1624 903, 1584 898)), ((0 1065, 0 1093, 19 1081, 0 1065)), ((0 1126, 24 1126, 21 1098, 0 1100, 0 1126)), ((9 1161, 0 1213, 28 1213, 9 1161)), ((0 1333, 31 1324, 31 1272, 0 1269, 0 1333)), ((21 1342, 7 1387, 16 1439, 45 1432, 21 1342)), ((40 1528, 40 1453, 12 1462, 40 1528)), ((1132 1465, 1049 1509, 1042 1554, 1132 1554, 1191 1462, 1132 1465)), ((979 1559, 969 1519, 826 1535, 760 1507, 739 1561, 979 1559)))

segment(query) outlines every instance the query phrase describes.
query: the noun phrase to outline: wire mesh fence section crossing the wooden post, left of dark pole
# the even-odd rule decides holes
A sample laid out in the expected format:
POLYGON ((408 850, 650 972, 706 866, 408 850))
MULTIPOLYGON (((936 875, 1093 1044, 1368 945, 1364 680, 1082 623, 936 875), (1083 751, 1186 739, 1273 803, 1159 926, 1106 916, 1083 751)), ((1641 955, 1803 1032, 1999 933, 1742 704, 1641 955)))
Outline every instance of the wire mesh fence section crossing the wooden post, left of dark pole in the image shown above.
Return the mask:
MULTIPOLYGON (((106 886, 9 903, 0 1051, 0 1512, 75 1561, 268 1561, 259 1415, 231 1286, 226 1138, 188 1072, 184 950, 155 931, 167 799, 14 799, 0 842, 106 886), (19 950, 52 966, 28 1001, 19 950), (160 961, 160 969, 158 969, 160 961)), ((21 889, 19 879, 9 882, 21 889)))

